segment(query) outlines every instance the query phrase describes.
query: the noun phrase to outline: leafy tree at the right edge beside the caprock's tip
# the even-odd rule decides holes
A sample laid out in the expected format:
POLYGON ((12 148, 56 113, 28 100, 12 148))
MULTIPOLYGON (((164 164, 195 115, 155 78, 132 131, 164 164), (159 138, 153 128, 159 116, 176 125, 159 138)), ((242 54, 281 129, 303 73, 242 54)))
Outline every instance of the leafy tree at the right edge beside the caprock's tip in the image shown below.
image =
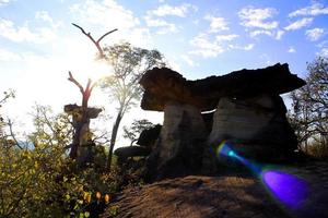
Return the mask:
POLYGON ((308 63, 307 70, 307 84, 291 94, 290 111, 291 123, 305 152, 309 144, 328 147, 328 59, 318 57, 308 63))

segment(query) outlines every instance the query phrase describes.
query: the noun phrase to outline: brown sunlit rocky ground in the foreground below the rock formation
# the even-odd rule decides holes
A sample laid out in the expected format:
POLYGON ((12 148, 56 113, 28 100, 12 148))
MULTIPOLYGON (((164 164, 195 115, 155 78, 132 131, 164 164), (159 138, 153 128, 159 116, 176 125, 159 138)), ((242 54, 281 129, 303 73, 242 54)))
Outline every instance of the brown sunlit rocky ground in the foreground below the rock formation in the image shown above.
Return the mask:
MULTIPOLYGON (((279 167, 278 167, 279 169, 279 167)), ((303 178, 309 192, 302 207, 274 199, 260 179, 246 172, 220 177, 189 175, 125 190, 103 217, 325 218, 328 217, 328 164, 280 167, 303 178)))

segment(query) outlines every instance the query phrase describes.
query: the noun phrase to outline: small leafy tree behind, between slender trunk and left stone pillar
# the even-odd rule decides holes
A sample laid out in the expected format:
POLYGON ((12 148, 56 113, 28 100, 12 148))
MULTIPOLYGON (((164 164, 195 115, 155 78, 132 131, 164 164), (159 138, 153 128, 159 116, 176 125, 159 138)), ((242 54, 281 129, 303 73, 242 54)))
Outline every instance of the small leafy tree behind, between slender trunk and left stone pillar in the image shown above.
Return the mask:
POLYGON ((134 142, 138 141, 140 133, 143 130, 150 129, 154 126, 152 122, 147 119, 134 120, 130 128, 124 126, 124 137, 129 138, 131 141, 130 146, 133 145, 134 142))

